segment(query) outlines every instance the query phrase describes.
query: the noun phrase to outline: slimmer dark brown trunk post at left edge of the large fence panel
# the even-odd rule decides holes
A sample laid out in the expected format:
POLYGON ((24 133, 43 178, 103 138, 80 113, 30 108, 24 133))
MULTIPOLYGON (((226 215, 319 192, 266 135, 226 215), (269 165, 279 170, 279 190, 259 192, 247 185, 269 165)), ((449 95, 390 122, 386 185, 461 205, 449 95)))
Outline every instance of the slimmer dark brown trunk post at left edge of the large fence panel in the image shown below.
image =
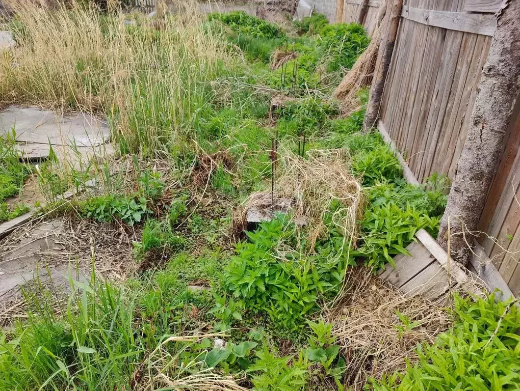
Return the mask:
MULTIPOLYGON (((390 0, 389 0, 390 1, 390 0)), ((383 89, 386 83, 386 76, 390 68, 392 53, 394 52, 395 39, 401 20, 403 0, 393 0, 392 8, 389 9, 390 15, 388 23, 381 25, 381 45, 379 46, 378 61, 376 63, 376 73, 370 88, 370 99, 367 105, 365 120, 363 121, 363 131, 367 132, 377 125, 383 89)))

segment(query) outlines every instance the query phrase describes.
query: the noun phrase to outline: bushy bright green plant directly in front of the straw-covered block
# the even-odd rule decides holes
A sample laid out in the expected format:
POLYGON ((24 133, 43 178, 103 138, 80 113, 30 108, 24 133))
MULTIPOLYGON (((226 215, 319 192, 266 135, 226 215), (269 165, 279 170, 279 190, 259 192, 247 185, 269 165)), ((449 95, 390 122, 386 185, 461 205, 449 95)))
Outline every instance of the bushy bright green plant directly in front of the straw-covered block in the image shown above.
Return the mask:
POLYGON ((331 244, 321 244, 314 255, 294 250, 294 230, 281 218, 246 234, 250 241, 237 245, 227 268, 229 289, 252 311, 269 314, 284 328, 302 328, 320 296, 337 292, 346 259, 329 257, 337 250, 331 244), (284 251, 277 253, 278 246, 284 251))

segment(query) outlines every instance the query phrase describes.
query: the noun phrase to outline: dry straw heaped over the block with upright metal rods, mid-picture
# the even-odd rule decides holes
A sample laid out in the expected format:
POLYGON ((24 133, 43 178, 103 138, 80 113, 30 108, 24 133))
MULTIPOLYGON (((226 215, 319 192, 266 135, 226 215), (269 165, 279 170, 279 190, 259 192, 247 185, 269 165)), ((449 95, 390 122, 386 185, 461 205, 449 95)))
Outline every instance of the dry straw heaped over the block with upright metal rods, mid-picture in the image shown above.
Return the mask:
MULTIPOLYGON (((282 149, 277 154, 277 166, 275 198, 290 200, 293 221, 303 222, 308 230, 309 248, 314 248, 316 239, 326 231, 324 217, 332 209, 332 222, 344 234, 345 243, 355 241, 363 197, 361 185, 350 172, 346 151, 311 150, 302 158, 282 149), (337 205, 332 208, 333 204, 337 205)), ((250 207, 270 206, 262 205, 266 197, 258 194, 253 193, 246 200, 242 221, 250 207)))

